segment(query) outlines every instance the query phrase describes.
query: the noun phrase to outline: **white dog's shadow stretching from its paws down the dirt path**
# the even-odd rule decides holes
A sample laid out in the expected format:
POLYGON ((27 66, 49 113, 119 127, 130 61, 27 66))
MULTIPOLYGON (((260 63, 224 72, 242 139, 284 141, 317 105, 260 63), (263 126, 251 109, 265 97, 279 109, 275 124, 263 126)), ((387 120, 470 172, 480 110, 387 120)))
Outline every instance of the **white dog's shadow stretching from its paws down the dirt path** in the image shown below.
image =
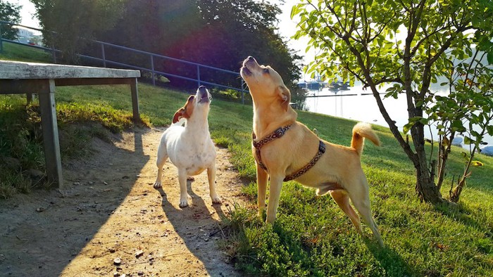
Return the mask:
POLYGON ((187 191, 192 201, 189 198, 189 206, 183 208, 175 207, 178 200, 176 203, 171 203, 163 188, 158 188, 157 191, 162 196, 163 212, 189 251, 204 264, 209 275, 219 276, 227 273, 227 276, 234 276, 236 274, 233 272, 233 267, 225 262, 225 257, 222 257, 218 249, 217 241, 221 233, 220 220, 213 217, 214 213, 218 214, 219 219, 225 217, 221 209, 225 204, 213 204, 207 197, 208 203, 206 204, 204 199, 194 193, 193 182, 193 180, 187 180, 187 191), (214 211, 210 212, 206 205, 211 205, 214 211))

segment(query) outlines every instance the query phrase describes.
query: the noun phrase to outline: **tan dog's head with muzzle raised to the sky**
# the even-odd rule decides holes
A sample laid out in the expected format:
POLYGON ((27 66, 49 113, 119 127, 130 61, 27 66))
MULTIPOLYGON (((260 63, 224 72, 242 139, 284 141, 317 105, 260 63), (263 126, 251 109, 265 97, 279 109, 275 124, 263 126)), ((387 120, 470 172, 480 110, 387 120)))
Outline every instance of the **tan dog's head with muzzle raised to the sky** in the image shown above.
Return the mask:
POLYGON ((289 101, 291 101, 291 93, 282 81, 281 75, 272 67, 258 65, 257 61, 249 56, 243 61, 240 74, 248 85, 254 101, 263 103, 279 101, 282 108, 287 110, 289 101))

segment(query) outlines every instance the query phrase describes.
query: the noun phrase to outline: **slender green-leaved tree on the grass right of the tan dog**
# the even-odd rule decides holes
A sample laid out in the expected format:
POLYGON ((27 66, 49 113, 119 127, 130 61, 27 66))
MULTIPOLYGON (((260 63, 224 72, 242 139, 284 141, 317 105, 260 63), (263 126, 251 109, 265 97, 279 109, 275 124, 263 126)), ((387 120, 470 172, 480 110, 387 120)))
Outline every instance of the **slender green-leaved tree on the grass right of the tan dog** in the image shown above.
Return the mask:
POLYGON ((450 60, 472 56, 478 44, 493 62, 491 1, 310 1, 292 8, 299 15, 296 37, 311 38, 321 49, 308 72, 318 70, 329 80, 369 88, 377 105, 416 169, 416 191, 427 202, 444 202, 435 184, 435 163, 428 161, 424 127, 432 122, 425 110, 435 99, 430 84, 451 70, 450 60), (399 33, 404 34, 404 41, 399 33), (380 89, 391 84, 386 97, 406 96, 412 141, 403 136, 382 103, 380 89))

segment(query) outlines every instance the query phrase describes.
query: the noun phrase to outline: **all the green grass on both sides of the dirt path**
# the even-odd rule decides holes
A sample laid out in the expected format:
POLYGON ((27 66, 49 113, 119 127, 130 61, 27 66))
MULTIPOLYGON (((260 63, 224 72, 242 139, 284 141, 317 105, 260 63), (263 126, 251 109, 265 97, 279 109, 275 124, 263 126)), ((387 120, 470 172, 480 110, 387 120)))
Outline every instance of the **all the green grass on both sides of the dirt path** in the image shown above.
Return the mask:
MULTIPOLYGON (((139 84, 140 110, 147 124, 169 124, 186 98, 187 94, 178 91, 139 84)), ((119 131, 130 126, 125 124, 132 110, 127 86, 61 87, 56 101, 62 130, 86 121, 97 122, 96 126, 104 130, 119 131)), ((251 181, 243 191, 251 202, 237 205, 223 219, 229 236, 221 243, 244 273, 252 276, 493 276, 492 157, 477 156, 476 160, 484 166, 473 168, 456 207, 429 205, 416 197, 413 166, 397 141, 387 128, 375 126, 382 147, 366 143, 362 163, 370 183, 373 214, 386 245, 380 249, 369 228, 365 227, 367 238, 358 236, 330 197, 317 197, 313 190, 294 181, 282 188, 278 218, 273 226, 257 217, 251 119, 250 105, 217 99, 211 103, 209 125, 213 140, 230 150, 240 176, 251 181)), ((17 147, 4 145, 8 142, 8 138, 2 139, 6 134, 11 136, 9 140, 21 136, 29 143, 32 141, 32 146, 20 149, 39 145, 36 105, 26 107, 20 96, 0 96, 0 120, 4 120, 0 121, 0 156, 17 147), (11 129, 5 130, 5 122, 12 121, 17 122, 15 126, 9 123, 11 129), (13 128, 21 130, 20 133, 13 128)), ((354 122, 311 112, 299 112, 299 120, 311 129, 318 129, 323 139, 349 145, 354 122)), ((104 131, 89 132, 88 139, 101 133, 104 131)), ((463 169, 460 152, 460 148, 454 148, 451 153, 447 184, 463 169)), ((21 163, 27 160, 33 166, 43 163, 42 155, 26 154, 26 157, 20 157, 21 163)), ((3 182, 4 171, 1 172, 3 182)), ((16 176, 8 178, 15 183, 16 176)), ((444 186, 442 194, 448 195, 448 190, 444 186)))

